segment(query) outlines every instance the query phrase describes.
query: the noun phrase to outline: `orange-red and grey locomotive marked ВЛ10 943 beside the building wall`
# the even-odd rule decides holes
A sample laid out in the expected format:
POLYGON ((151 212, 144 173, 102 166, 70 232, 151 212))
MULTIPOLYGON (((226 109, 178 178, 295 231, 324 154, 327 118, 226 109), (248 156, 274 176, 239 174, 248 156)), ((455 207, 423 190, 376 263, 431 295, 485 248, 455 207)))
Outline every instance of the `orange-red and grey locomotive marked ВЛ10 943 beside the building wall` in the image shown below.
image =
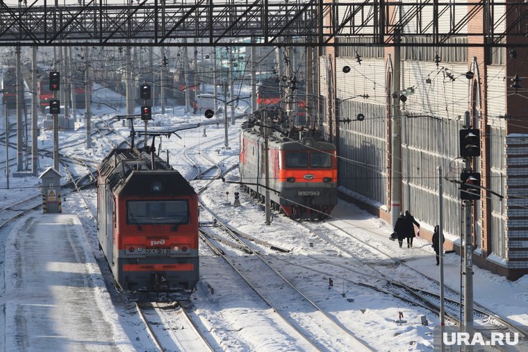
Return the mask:
POLYGON ((240 130, 240 183, 272 208, 293 219, 326 219, 337 204, 336 146, 315 128, 290 125, 281 108, 256 110, 240 130), (267 115, 267 117, 265 116, 267 115), (265 179, 265 135, 268 126, 269 185, 265 179))

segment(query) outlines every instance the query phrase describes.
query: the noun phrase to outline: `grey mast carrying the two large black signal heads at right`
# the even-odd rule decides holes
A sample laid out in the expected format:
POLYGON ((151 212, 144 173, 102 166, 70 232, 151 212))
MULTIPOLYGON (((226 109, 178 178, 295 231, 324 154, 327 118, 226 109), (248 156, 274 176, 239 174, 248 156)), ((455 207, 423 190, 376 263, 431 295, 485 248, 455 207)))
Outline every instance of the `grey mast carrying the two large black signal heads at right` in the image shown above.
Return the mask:
MULTIPOLYGON (((470 112, 465 112, 464 118, 465 128, 470 128, 470 112)), ((470 159, 468 157, 464 158, 464 168, 466 172, 471 171, 470 159)), ((472 201, 465 200, 464 202, 464 224, 465 224, 465 233, 463 240, 463 253, 464 253, 464 263, 465 263, 465 272, 464 276, 464 326, 465 333, 473 335, 473 240, 472 240, 472 224, 471 224, 471 209, 472 201)))

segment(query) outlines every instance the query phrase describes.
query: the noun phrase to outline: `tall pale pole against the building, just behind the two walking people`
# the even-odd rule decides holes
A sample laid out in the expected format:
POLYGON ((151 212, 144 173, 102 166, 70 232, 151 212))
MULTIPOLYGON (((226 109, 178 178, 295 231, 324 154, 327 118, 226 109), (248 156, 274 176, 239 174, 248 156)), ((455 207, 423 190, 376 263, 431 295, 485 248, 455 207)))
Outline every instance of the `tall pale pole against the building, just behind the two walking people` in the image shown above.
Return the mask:
POLYGON ((399 116, 400 97, 400 63, 401 52, 399 47, 399 28, 395 28, 394 35, 394 70, 393 70, 393 118, 390 119, 390 131, 392 134, 392 156, 390 158, 390 220, 392 226, 402 209, 402 128, 399 116))

